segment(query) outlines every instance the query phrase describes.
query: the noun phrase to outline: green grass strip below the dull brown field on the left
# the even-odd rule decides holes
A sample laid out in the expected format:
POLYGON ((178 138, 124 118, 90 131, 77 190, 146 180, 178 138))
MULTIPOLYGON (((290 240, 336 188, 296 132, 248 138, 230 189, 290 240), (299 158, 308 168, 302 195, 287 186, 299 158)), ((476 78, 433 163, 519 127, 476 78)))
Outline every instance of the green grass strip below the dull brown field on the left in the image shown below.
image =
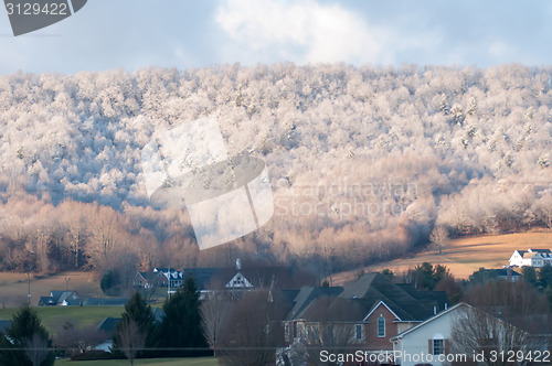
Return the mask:
MULTIPOLYGON (((73 321, 81 326, 97 325, 107 316, 118 317, 125 306, 34 306, 42 324, 51 334, 55 334, 65 321, 73 321)), ((18 308, 0 309, 0 320, 11 320, 18 308)))

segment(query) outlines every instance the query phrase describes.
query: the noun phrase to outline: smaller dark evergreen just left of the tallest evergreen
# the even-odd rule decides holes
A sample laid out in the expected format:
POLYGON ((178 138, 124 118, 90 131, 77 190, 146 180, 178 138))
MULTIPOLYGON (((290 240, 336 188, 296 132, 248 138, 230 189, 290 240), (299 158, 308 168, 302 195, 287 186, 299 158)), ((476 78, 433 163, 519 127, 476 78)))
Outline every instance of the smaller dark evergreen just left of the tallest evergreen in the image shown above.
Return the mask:
MULTIPOLYGON (((139 335, 146 340, 145 347, 153 348, 157 346, 157 330, 153 311, 146 302, 144 295, 137 291, 125 305, 125 312, 121 315, 120 322, 115 327, 113 349, 116 355, 120 355, 120 349, 123 348, 121 333, 132 322, 136 324, 139 335)), ((145 356, 147 354, 148 352, 142 351, 138 353, 138 356, 145 356)))

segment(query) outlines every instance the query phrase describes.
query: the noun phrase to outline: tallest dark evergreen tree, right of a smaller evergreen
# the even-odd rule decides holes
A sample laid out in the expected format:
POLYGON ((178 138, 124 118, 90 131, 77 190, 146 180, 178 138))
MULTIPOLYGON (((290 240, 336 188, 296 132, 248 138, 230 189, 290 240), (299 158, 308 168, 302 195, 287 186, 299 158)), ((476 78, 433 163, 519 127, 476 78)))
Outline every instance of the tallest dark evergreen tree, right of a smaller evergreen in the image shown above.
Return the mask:
POLYGON ((167 354, 170 356, 205 354, 197 349, 209 346, 201 329, 200 292, 192 274, 188 274, 184 286, 164 302, 163 311, 161 342, 163 347, 172 348, 167 354))

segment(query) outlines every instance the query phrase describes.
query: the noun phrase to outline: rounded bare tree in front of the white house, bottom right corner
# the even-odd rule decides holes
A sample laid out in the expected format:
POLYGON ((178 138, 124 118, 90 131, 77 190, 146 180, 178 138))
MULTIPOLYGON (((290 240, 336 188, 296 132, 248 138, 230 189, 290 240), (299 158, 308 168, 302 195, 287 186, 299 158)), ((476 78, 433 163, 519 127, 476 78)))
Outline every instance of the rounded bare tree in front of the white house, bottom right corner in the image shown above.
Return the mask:
POLYGON ((463 300, 470 306, 453 326, 453 353, 484 353, 487 365, 506 365, 507 359, 492 356, 542 349, 540 334, 550 331, 550 310, 530 283, 489 280, 468 289, 463 300))

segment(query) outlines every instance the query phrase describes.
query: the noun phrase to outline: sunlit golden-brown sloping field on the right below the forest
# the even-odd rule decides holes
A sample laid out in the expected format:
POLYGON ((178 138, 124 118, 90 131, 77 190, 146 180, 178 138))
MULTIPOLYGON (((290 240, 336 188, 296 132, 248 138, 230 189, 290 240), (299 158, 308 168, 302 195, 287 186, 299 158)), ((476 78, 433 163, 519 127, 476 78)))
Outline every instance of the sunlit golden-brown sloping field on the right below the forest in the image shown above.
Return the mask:
MULTIPOLYGON (((431 248, 431 246, 428 246, 431 248)), ((516 249, 552 249, 552 230, 535 229, 527 233, 507 235, 482 235, 453 239, 439 255, 438 250, 418 252, 412 257, 395 259, 367 267, 364 271, 379 271, 390 268, 395 273, 425 261, 444 265, 457 278, 467 279, 481 267, 502 268, 516 249)), ((360 270, 346 271, 333 277, 333 284, 343 284, 357 278, 360 270)))

